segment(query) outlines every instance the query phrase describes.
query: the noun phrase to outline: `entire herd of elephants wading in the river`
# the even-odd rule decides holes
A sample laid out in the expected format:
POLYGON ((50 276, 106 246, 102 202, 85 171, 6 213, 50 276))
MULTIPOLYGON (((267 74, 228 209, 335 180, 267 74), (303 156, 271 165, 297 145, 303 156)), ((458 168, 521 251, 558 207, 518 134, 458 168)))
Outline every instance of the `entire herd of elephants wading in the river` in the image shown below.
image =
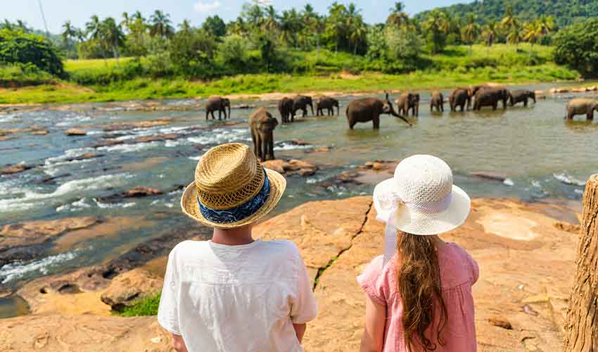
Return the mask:
MULTIPOLYGON (((386 93, 386 92, 385 92, 386 93)), ((357 123, 372 122, 374 129, 380 128, 380 115, 393 115, 399 118, 409 126, 407 117, 411 114, 414 117, 419 116, 420 95, 414 92, 406 92, 401 94, 394 103, 397 106, 395 110, 393 102, 390 101, 390 96, 386 93, 384 99, 377 98, 358 98, 350 101, 345 110, 347 121, 350 130, 355 127, 357 123)), ((442 93, 432 92, 430 100, 430 111, 436 113, 443 113, 445 111, 445 102, 449 103, 450 111, 466 111, 473 106, 473 111, 480 111, 481 108, 488 106, 492 110, 498 108, 499 103, 502 103, 502 108, 506 109, 507 104, 511 106, 517 103, 523 103, 523 106, 528 106, 529 101, 536 103, 535 92, 530 90, 518 89, 509 90, 505 87, 478 85, 475 87, 459 87, 454 89, 450 95, 445 99, 442 93)), ((316 115, 334 115, 334 108, 336 114, 340 115, 341 108, 337 99, 331 97, 322 97, 316 102, 316 115)), ((314 103, 312 97, 300 95, 294 98, 284 97, 281 99, 277 108, 281 115, 281 123, 291 123, 295 120, 295 115, 301 111, 303 116, 307 115, 307 107, 310 108, 312 115, 314 114, 314 103)), ((215 118, 214 112, 218 111, 218 119, 220 120, 222 113, 224 119, 230 118, 231 103, 227 98, 214 96, 208 99, 205 106, 205 119, 211 115, 215 118), (228 108, 228 115, 227 115, 228 108)), ((566 117, 572 119, 574 115, 587 115, 588 120, 594 118, 594 111, 598 111, 598 101, 594 99, 572 99, 566 106, 566 117)), ((255 154, 261 161, 274 159, 274 129, 279 125, 279 121, 272 116, 265 108, 258 108, 248 119, 251 138, 255 154)))

